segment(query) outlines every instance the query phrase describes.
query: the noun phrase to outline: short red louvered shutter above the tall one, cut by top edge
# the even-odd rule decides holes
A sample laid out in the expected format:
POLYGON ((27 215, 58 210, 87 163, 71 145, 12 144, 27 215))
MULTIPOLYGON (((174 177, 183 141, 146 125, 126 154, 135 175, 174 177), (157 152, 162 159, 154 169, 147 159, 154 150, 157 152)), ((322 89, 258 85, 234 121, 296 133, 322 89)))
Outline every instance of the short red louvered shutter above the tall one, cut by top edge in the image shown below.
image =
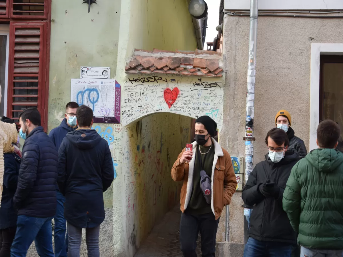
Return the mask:
POLYGON ((7 0, 10 1, 10 18, 47 19, 48 0, 7 0))

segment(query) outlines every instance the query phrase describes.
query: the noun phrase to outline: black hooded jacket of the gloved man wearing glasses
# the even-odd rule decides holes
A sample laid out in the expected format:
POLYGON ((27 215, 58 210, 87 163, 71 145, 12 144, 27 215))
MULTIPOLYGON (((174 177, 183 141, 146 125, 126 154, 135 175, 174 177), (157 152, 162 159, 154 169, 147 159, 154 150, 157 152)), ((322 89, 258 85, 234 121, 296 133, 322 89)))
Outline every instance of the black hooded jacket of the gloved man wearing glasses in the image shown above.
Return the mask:
POLYGON ((298 161, 294 150, 287 151, 279 163, 273 163, 267 154, 266 160, 258 163, 251 172, 242 192, 244 203, 255 205, 250 215, 250 237, 265 242, 296 244, 296 232, 282 209, 282 195, 291 170, 298 161), (260 193, 259 186, 267 180, 280 187, 279 198, 266 198, 260 193))

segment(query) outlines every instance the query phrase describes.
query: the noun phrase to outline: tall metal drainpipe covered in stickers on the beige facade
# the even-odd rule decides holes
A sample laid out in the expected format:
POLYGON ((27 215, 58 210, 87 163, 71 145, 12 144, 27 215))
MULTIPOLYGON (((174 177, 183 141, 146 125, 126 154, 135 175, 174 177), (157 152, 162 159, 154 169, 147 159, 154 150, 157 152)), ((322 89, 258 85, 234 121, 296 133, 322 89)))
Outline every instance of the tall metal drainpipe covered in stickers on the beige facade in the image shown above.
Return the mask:
MULTIPOLYGON (((247 116, 245 123, 245 179, 253 169, 253 137, 254 131, 254 99, 255 99, 255 78, 256 78, 256 42, 257 42, 257 16, 258 0, 250 1, 250 33, 249 33, 249 53, 248 53, 248 79, 247 79, 247 116)), ((244 237, 247 242, 248 220, 251 213, 251 206, 244 206, 244 237)))

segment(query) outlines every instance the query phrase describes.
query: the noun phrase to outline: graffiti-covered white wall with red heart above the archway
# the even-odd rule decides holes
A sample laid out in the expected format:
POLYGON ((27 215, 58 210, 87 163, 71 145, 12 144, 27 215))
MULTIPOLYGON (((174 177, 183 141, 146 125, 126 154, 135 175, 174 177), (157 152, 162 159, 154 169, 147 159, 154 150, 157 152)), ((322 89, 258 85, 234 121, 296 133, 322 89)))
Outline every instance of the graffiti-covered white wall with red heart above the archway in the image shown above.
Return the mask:
POLYGON ((181 74, 129 75, 122 86, 123 126, 148 114, 168 112, 198 118, 208 115, 223 123, 223 82, 221 78, 181 74))

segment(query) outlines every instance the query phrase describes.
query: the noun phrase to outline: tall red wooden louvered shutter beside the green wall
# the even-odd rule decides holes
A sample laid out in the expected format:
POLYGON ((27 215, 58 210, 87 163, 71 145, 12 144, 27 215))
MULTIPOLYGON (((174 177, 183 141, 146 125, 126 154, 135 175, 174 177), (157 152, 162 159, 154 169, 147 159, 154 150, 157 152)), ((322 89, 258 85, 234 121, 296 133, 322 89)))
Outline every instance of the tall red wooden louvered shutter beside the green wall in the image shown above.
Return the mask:
POLYGON ((46 124, 47 22, 11 22, 7 115, 19 122, 19 114, 37 107, 46 124))

